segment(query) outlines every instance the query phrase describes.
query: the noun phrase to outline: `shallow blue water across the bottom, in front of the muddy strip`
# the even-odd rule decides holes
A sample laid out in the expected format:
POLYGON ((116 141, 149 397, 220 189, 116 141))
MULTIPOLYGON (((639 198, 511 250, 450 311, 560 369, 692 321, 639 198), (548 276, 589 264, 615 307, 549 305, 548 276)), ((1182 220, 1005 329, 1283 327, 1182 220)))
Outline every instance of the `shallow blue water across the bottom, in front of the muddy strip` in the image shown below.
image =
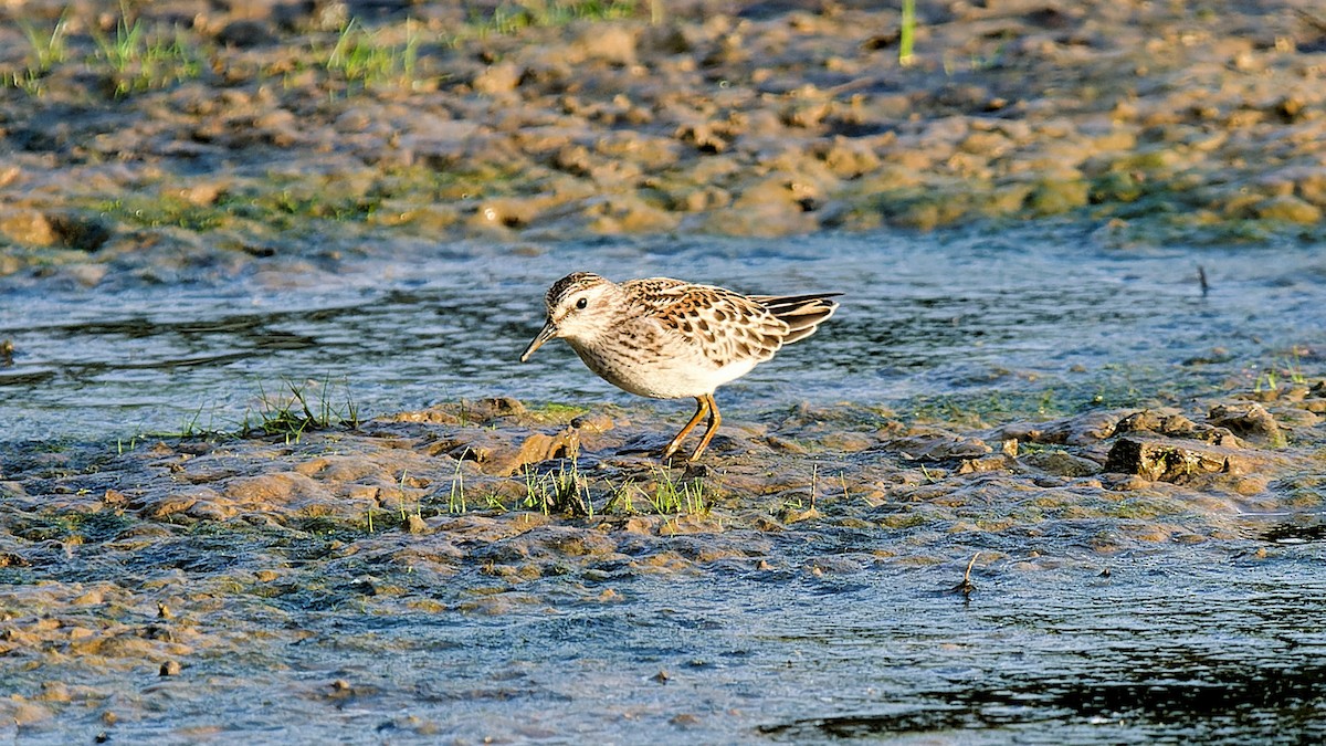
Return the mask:
MULTIPOLYGON (((422 581, 415 592, 457 607, 237 596, 206 624, 265 629, 224 656, 159 681, 142 666, 78 682, 129 673, 105 709, 131 717, 111 731, 155 742, 1326 737, 1322 544, 1008 564, 979 571, 969 596, 951 589, 960 565, 873 556, 888 544, 801 535, 762 554, 770 569, 544 579, 497 592, 511 601, 496 615, 459 608, 492 589, 422 581)), ((89 714, 15 735, 105 730, 89 714)))

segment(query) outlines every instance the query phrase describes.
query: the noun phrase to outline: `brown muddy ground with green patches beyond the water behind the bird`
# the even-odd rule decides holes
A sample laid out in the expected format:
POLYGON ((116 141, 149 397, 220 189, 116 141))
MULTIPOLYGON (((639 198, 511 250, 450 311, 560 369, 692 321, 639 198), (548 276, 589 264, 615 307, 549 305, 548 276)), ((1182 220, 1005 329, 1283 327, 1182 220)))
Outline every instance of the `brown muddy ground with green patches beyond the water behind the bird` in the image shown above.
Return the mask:
POLYGON ((334 263, 306 234, 383 227, 1321 239, 1311 0, 920 3, 906 65, 878 5, 7 3, 0 275, 334 263))

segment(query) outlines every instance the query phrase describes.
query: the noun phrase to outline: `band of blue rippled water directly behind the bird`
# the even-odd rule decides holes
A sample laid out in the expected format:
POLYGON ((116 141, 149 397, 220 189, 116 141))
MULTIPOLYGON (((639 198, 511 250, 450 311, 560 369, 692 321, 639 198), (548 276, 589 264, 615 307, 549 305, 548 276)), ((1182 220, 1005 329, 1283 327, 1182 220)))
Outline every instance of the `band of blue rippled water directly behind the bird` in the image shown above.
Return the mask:
MULTIPOLYGON (((591 269, 678 275, 747 292, 837 289, 831 324, 721 393, 725 406, 895 405, 916 397, 1059 392, 1131 404, 1276 364, 1326 328, 1326 258, 1311 247, 1095 247, 1082 228, 1000 235, 817 235, 598 246, 404 244, 332 269, 255 260, 171 285, 5 289, 0 438, 130 438, 233 429, 290 382, 366 415, 497 394, 638 402, 565 345, 516 362, 542 292, 591 269), (1209 292, 1199 284, 1199 267, 1209 292), (1197 361, 1187 365, 1185 361, 1197 361), (1174 390, 1166 384, 1172 381, 1174 390)), ((187 280, 187 277, 186 277, 187 280)), ((670 405, 668 405, 670 406, 670 405)))

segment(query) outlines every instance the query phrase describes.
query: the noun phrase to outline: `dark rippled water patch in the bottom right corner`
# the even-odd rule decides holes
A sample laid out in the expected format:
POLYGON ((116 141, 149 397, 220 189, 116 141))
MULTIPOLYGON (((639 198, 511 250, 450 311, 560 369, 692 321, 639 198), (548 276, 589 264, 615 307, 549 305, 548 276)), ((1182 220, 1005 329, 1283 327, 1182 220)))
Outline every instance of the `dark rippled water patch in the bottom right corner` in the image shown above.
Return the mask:
MULTIPOLYGON (((849 711, 757 730, 790 742, 987 729, 1037 741, 1326 735, 1326 637, 1298 627, 1319 611, 1311 597, 1322 589, 1318 581, 1262 579, 1244 585, 1246 595, 1201 600, 1181 580, 1163 592, 1138 580, 1116 581, 1128 587, 1107 592, 1114 611, 1069 611, 1052 601, 1062 611, 1017 615, 1020 634, 991 636, 976 625, 963 646, 984 653, 980 676, 953 666, 939 689, 914 686, 899 697, 880 688, 875 702, 849 711), (1276 589, 1281 583, 1288 588, 1276 589), (1155 597, 1146 599, 1148 592, 1155 597)), ((1062 599, 1062 588, 1054 592, 1062 599)), ((882 648, 894 644, 887 634, 874 637, 882 648)), ((936 654, 944 657, 951 656, 936 654)))

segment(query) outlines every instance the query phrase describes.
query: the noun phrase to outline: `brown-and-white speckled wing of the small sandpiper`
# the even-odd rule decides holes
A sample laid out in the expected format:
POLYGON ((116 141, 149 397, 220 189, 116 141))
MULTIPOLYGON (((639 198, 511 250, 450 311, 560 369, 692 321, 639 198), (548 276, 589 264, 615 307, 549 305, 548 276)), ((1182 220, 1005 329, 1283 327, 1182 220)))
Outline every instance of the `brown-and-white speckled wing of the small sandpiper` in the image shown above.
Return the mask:
POLYGON ((631 280, 625 287, 642 313, 683 337, 717 368, 769 360, 788 333, 788 324, 768 308, 724 288, 668 277, 631 280))

